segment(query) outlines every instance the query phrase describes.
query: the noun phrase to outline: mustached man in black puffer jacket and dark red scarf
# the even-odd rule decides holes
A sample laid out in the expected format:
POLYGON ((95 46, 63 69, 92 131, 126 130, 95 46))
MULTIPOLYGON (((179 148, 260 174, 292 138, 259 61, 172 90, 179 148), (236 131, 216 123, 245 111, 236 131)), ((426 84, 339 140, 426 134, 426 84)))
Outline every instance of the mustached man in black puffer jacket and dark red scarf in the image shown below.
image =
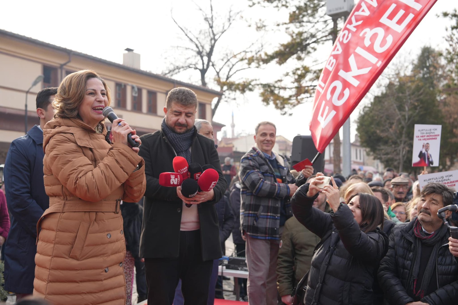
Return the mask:
MULTIPOLYGON (((394 227, 378 270, 389 304, 457 304, 458 265, 448 250, 448 228, 437 217, 437 211, 452 202, 450 188, 429 183, 421 190, 418 216, 394 227)), ((446 217, 450 214, 447 211, 446 217)))

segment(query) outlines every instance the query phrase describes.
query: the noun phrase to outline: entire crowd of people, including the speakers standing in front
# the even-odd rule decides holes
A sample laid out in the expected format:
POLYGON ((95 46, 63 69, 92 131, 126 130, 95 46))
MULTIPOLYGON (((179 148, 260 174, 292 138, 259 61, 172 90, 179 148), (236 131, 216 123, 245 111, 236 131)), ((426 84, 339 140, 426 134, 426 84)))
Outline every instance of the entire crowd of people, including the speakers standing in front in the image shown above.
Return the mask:
POLYGON ((137 301, 212 305, 231 234, 249 271, 234 286, 251 305, 456 304, 458 240, 437 214, 453 203, 447 186, 420 190, 390 168, 291 170, 268 121, 237 170, 190 89, 170 90, 160 130, 142 136, 105 124, 110 102, 95 71, 71 73, 38 93, 39 125, 11 143, 0 245, 17 304, 131 304, 135 277, 137 301), (161 185, 177 156, 218 180, 192 196, 161 185))

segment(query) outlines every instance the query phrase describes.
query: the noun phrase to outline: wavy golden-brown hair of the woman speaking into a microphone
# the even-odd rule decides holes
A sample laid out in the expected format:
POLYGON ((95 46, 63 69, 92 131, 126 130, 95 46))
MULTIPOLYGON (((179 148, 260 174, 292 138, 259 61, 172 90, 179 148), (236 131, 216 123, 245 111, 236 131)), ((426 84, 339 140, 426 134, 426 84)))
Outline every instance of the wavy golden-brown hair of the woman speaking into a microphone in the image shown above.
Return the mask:
POLYGON ((55 118, 79 118, 78 108, 86 93, 86 82, 91 78, 97 78, 104 84, 108 104, 111 103, 110 89, 97 72, 93 70, 76 71, 65 76, 60 82, 53 101, 55 118))

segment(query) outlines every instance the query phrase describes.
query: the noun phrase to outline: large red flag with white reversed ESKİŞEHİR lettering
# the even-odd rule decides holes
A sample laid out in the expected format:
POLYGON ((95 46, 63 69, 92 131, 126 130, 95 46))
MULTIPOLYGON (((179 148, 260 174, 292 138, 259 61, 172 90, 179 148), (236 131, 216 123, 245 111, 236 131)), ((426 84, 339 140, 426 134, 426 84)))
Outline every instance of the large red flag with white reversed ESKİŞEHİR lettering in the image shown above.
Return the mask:
POLYGON ((321 73, 310 131, 323 152, 436 0, 360 0, 321 73))

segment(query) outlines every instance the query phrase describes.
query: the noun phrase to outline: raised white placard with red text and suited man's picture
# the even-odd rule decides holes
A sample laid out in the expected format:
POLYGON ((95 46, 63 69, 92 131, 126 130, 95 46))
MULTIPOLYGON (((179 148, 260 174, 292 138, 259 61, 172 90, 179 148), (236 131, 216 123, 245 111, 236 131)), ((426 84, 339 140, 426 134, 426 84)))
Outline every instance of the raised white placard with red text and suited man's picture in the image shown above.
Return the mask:
POLYGON ((442 125, 415 124, 412 166, 439 166, 442 125))

